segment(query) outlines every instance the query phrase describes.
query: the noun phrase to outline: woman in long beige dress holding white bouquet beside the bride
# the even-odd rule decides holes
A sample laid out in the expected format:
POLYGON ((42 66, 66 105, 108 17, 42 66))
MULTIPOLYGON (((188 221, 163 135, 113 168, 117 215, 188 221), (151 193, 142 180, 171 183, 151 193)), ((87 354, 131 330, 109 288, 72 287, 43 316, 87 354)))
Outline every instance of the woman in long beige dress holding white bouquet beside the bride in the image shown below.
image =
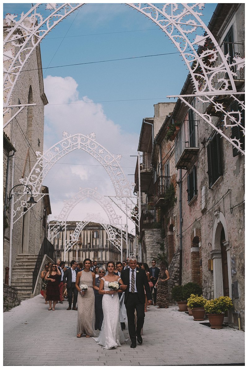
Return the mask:
POLYGON ((85 333, 86 337, 96 337, 95 332, 95 273, 91 272, 91 260, 84 260, 84 269, 77 273, 76 289, 77 295, 77 338, 85 333), (80 289, 81 284, 88 286, 87 290, 80 289))

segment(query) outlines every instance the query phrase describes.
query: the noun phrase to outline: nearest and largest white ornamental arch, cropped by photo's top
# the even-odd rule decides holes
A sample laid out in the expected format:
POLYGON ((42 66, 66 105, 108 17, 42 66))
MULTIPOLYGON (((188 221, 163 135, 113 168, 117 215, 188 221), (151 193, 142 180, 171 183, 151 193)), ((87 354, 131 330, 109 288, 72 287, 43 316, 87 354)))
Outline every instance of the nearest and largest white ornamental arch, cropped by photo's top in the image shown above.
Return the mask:
MULTIPOLYGON (((26 14, 22 13, 18 20, 15 20, 17 18, 15 14, 6 15, 6 24, 13 25, 4 39, 4 48, 6 48, 4 61, 7 62, 7 67, 4 69, 4 103, 7 110, 9 109, 7 106, 9 105, 15 83, 22 70, 24 70, 25 63, 35 47, 60 21, 83 5, 84 3, 74 5, 69 3, 62 5, 47 4, 46 9, 51 10, 52 13, 46 18, 37 13, 39 4, 35 4, 26 14), (13 55, 9 50, 10 45, 19 48, 16 55, 13 55)), ((144 5, 141 3, 126 3, 126 5, 152 20, 170 38, 189 69, 195 89, 193 96, 203 102, 210 101, 214 104, 216 110, 221 110, 224 114, 223 126, 225 128, 239 125, 244 131, 239 118, 240 111, 244 109, 244 102, 235 97, 235 94, 240 95, 242 93, 237 93, 233 79, 235 72, 230 68, 230 66, 232 68, 235 67, 237 70, 244 68, 244 58, 233 58, 234 62, 229 65, 229 55, 223 54, 213 34, 200 18, 202 16, 200 11, 204 4, 165 3, 161 4, 161 8, 150 3, 144 5), (206 50, 203 48, 199 55, 198 46, 205 46, 206 42, 209 43, 209 48, 206 50), (206 62, 206 58, 208 62, 206 62), (234 112, 236 114, 227 114, 223 106, 214 101, 214 97, 220 94, 228 94, 237 100, 240 110, 234 112)), ((175 97, 178 97, 191 107, 189 101, 185 99, 186 96, 179 95, 175 97)), ((230 144, 244 154, 240 141, 236 138, 229 138, 224 133, 224 130, 216 128, 212 123, 211 115, 195 111, 206 123, 210 124, 214 130, 219 132, 230 144)), ((16 114, 18 112, 14 115, 16 114)), ((11 122, 11 119, 8 123, 11 122)))

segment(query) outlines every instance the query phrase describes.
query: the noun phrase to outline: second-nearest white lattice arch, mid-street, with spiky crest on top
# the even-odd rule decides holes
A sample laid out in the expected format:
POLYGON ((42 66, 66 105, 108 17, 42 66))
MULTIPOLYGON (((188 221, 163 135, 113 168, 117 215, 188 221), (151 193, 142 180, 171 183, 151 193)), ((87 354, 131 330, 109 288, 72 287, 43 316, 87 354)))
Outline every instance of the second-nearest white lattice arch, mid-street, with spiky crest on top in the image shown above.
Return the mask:
MULTIPOLYGON (((35 200, 38 202, 45 196, 41 192, 41 186, 52 166, 64 155, 74 150, 81 149, 88 152, 88 154, 101 163, 113 183, 116 195, 119 196, 120 199, 123 199, 123 203, 126 206, 126 199, 124 200, 124 198, 131 197, 132 187, 120 167, 120 159, 122 156, 111 154, 107 149, 95 141, 95 133, 91 133, 87 136, 80 133, 69 135, 64 131, 63 137, 64 139, 49 148, 43 155, 41 152, 36 151, 38 157, 37 162, 32 168, 29 176, 20 179, 22 184, 31 188, 35 200)), ((14 223, 32 207, 28 208, 25 194, 22 194, 19 199, 15 200, 14 205, 14 223), (27 207, 26 211, 23 210, 24 207, 27 207)))

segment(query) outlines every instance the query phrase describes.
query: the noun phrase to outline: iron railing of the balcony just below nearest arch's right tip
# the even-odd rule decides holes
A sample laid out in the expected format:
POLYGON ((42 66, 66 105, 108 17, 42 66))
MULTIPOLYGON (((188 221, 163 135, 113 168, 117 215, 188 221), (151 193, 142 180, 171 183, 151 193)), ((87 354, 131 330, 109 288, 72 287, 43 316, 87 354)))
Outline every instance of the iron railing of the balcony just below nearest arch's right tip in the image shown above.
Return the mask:
POLYGON ((185 120, 175 138, 175 162, 177 163, 185 148, 199 147, 199 120, 185 120))

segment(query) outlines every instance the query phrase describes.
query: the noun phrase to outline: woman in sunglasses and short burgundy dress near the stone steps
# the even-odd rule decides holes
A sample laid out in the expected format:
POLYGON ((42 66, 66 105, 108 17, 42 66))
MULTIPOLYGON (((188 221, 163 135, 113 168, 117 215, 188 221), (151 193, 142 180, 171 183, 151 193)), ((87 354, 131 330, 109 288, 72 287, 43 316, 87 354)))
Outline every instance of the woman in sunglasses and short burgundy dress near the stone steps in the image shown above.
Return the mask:
POLYGON ((61 279, 61 272, 55 263, 51 264, 50 270, 46 273, 45 280, 48 281, 46 290, 46 301, 49 301, 49 309, 55 310, 57 301, 60 301, 59 296, 59 282, 61 279), (52 308, 53 301, 53 308, 52 308))

